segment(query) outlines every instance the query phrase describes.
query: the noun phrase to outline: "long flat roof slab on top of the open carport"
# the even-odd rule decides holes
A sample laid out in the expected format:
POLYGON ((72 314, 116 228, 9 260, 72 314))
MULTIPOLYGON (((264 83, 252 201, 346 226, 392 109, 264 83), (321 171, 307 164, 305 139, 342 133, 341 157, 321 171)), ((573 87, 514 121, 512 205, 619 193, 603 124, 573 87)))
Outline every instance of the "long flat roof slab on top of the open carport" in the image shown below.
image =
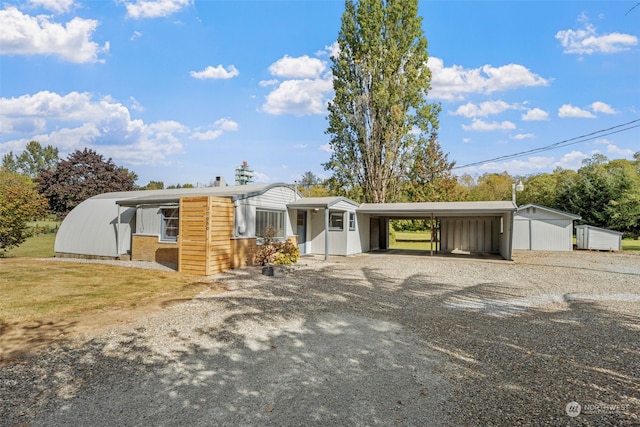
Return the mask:
POLYGON ((419 202, 419 203, 363 203, 358 213, 389 217, 477 216, 502 215, 515 212, 511 201, 497 202, 419 202))

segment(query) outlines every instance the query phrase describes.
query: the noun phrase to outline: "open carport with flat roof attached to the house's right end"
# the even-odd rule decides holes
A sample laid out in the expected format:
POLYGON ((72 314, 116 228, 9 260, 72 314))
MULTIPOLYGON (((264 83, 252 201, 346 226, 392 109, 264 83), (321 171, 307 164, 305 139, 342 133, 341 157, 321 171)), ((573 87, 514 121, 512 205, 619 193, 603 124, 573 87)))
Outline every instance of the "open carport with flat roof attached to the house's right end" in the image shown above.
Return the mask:
POLYGON ((390 219, 431 219, 440 224, 440 252, 511 260, 516 209, 512 201, 364 203, 358 214, 369 220, 369 250, 388 249, 390 219))

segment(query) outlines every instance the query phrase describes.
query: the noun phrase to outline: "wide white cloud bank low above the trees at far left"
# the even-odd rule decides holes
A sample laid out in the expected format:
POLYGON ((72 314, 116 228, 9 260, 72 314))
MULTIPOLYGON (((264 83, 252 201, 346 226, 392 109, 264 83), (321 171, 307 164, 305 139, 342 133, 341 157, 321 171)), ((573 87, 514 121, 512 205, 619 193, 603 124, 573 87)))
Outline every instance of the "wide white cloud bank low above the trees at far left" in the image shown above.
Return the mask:
POLYGON ((37 140, 57 147, 61 156, 88 147, 134 165, 169 164, 174 154, 183 151, 179 135, 189 131, 176 121, 145 124, 131 118, 129 109, 110 97, 95 100, 89 93, 78 92, 0 98, 0 123, 3 134, 9 129, 23 136, 0 143, 2 153, 37 140))

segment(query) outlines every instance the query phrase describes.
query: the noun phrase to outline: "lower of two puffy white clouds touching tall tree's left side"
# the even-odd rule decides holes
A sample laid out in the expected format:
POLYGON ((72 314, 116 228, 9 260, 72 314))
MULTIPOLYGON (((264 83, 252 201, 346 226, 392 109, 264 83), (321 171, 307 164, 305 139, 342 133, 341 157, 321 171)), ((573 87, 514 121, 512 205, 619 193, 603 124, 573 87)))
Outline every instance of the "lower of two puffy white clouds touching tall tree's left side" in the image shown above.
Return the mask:
POLYGON ((324 114, 326 113, 325 95, 332 90, 331 80, 285 80, 267 95, 262 109, 274 115, 324 114))

